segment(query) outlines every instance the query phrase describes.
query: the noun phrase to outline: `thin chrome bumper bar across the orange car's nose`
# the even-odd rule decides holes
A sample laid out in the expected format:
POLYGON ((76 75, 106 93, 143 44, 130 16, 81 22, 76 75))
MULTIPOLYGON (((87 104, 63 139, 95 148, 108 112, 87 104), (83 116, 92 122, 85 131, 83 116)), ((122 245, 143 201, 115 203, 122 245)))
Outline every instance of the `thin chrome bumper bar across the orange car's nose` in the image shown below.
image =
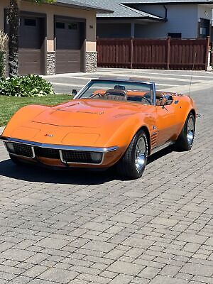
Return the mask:
POLYGON ((21 143, 26 144, 34 147, 40 147, 40 148, 50 148, 55 150, 73 150, 73 151, 88 151, 88 152, 99 152, 99 153, 108 153, 111 151, 116 151, 119 149, 118 146, 112 146, 112 147, 85 147, 85 146, 64 146, 64 145, 54 145, 54 144, 47 144, 47 143, 38 143, 33 141, 26 141, 16 138, 9 138, 0 136, 0 139, 4 142, 15 142, 15 143, 21 143))

